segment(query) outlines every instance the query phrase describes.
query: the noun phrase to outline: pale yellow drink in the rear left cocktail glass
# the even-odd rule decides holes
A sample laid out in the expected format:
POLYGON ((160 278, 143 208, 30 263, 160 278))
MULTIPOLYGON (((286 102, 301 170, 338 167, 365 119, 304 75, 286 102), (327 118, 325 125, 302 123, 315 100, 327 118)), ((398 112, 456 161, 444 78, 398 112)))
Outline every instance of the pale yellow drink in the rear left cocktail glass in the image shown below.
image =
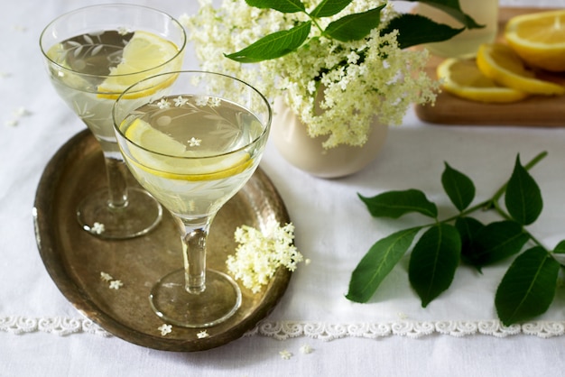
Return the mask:
MULTIPOLYGON (((119 152, 110 116, 116 98, 125 88, 163 70, 162 67, 159 67, 161 64, 155 63, 157 69, 153 69, 153 66, 150 65, 150 69, 139 69, 139 73, 112 77, 112 75, 119 75, 119 69, 124 69, 120 63, 124 60, 123 53, 134 35, 134 32, 109 30, 90 32, 54 44, 47 52, 47 56, 54 63, 65 68, 52 69, 53 73, 50 78, 53 87, 67 105, 88 125, 106 152, 119 152)), ((137 32, 135 41, 137 45, 147 45, 146 50, 151 47, 151 42, 157 47, 164 46, 162 50, 168 51, 171 56, 179 51, 171 41, 164 40, 151 32, 137 32)), ((147 55, 145 51, 137 52, 137 55, 139 56, 134 57, 136 59, 130 60, 141 60, 141 62, 133 61, 130 66, 138 64, 143 67, 143 64, 146 64, 143 60, 148 60, 147 55)), ((163 60, 162 57, 158 59, 163 60)), ((165 67, 167 70, 180 69, 181 63, 181 59, 172 60, 165 67)), ((125 69, 134 70, 128 67, 125 69)), ((155 85, 155 87, 158 86, 155 85)), ((151 94, 150 91, 147 94, 151 94)), ((140 92, 139 97, 143 95, 144 92, 140 92)))

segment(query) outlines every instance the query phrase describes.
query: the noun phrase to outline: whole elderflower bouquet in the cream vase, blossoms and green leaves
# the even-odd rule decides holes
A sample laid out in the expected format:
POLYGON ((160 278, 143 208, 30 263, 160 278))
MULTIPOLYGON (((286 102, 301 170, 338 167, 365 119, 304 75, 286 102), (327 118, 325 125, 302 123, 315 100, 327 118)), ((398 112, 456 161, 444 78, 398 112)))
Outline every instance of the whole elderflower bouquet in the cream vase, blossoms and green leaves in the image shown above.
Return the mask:
MULTIPOLYGON (((477 27, 457 1, 423 2, 477 27)), ((199 3, 199 13, 183 15, 181 23, 201 68, 282 98, 311 137, 328 136, 325 148, 361 146, 375 115, 383 124, 400 124, 412 103, 433 102, 439 84, 423 72, 428 53, 406 48, 464 29, 398 14, 385 0, 199 3)))

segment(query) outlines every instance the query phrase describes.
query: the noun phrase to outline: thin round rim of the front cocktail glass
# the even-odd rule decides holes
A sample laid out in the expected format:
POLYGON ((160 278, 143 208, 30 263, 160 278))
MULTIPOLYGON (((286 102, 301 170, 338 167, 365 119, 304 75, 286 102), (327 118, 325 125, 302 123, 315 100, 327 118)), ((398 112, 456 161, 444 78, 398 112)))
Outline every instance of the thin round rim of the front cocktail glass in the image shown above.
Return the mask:
MULTIPOLYGON (((174 84, 171 84, 174 85, 174 84)), ((137 91, 134 91, 134 93, 136 93, 137 91)), ((189 93, 190 94, 190 93, 189 93)), ((187 94, 188 95, 188 94, 187 94)), ((133 99, 134 100, 134 99, 133 99)), ((231 101, 234 102, 234 101, 231 101)), ((239 106, 241 106, 240 104, 237 104, 239 106)), ((243 107, 243 106, 242 106, 243 107)), ((248 110, 251 114, 255 115, 255 112, 251 111, 250 109, 248 109, 247 107, 244 107, 246 110, 248 110)), ((255 115, 256 116, 256 115, 255 115)), ((136 148, 139 148, 145 152, 150 152, 153 153, 155 155, 159 155, 159 156, 163 156, 163 157, 167 157, 167 158, 173 158, 173 159, 178 159, 178 160, 184 160, 184 161, 190 161, 190 160, 205 160, 205 159, 216 159, 218 157, 222 157, 222 156, 227 156, 230 154, 234 154, 237 152, 241 152, 243 150, 245 150, 245 148, 248 148, 249 146, 258 143, 258 141, 260 141, 264 135, 266 133, 269 132, 269 129, 271 128, 271 124, 273 122, 273 109, 271 107, 271 104, 269 103, 269 101, 267 100, 266 97, 264 97, 263 93, 261 93, 259 90, 257 90, 257 88, 255 88, 253 85, 243 81, 240 78, 235 78, 233 76, 229 76, 226 75, 224 73, 218 73, 218 72, 212 72, 212 71, 206 71, 206 70, 175 70, 175 71, 170 71, 170 72, 163 72, 160 73, 158 75, 154 75, 148 78, 144 78, 142 80, 139 80, 138 82, 134 83, 133 85, 131 85, 130 87, 127 87, 124 92, 122 92, 116 99, 116 102, 114 102, 114 106, 112 106, 112 124, 114 125, 114 130, 116 131, 116 133, 119 133, 120 137, 122 137, 127 143, 131 143, 133 144, 136 148), (266 106, 266 110, 267 110, 267 119, 265 122, 261 122, 261 124, 264 124, 264 127, 262 129, 262 132, 260 134, 258 134, 253 140, 249 141, 249 143, 245 143, 245 145, 234 149, 232 151, 229 152, 222 152, 222 153, 217 153, 217 154, 210 154, 207 156, 199 156, 199 157, 192 157, 192 156, 179 156, 178 154, 167 154, 167 153, 163 153, 163 152, 156 152, 153 151, 151 149, 145 148, 143 145, 140 145, 139 143, 135 143, 134 141, 132 141, 130 138, 128 138, 127 136, 125 136, 125 133, 122 132, 122 130, 120 129, 120 124, 121 122, 123 122, 123 120, 125 119, 125 116, 123 117, 123 119, 120 121, 120 124, 117 124, 116 121, 116 113, 118 112, 118 107, 120 102, 123 102, 125 100, 127 100, 127 98, 124 98, 125 96, 127 96, 127 92, 130 91, 130 89, 140 85, 142 87, 141 90, 143 89, 143 83, 144 81, 148 81, 154 78, 159 78, 162 76, 171 76, 171 75, 181 75, 181 74, 205 74, 205 75, 211 75, 211 76, 217 76, 217 77, 221 77, 221 78, 229 78, 229 79, 233 79, 235 81, 238 81, 239 83, 245 85, 245 87, 249 87, 253 92, 255 92, 259 98, 261 99, 261 101, 264 103, 264 105, 266 106)))

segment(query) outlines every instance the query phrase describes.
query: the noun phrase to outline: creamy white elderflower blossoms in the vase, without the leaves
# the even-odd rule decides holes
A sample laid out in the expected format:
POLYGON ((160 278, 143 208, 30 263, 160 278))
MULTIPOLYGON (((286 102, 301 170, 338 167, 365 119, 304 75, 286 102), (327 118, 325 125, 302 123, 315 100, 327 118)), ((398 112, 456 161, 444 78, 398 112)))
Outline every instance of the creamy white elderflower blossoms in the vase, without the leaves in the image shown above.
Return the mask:
MULTIPOLYGON (((375 116, 383 124, 401 124, 413 103, 433 102, 438 82, 423 72, 427 51, 401 50, 396 33, 374 29, 361 41, 336 41, 312 27, 310 41, 297 51, 274 60, 241 64, 224 54, 240 51, 273 32, 288 30, 305 14, 282 14, 223 0, 215 8, 199 0, 199 14, 183 15, 181 23, 194 41, 201 68, 241 78, 266 97, 282 97, 310 136, 327 135, 325 148, 366 143, 375 116), (344 64, 344 62, 347 62, 344 64)), ((320 1, 303 1, 309 10, 320 1)), ((341 13, 320 19, 324 28, 346 14, 361 13, 378 3, 352 2, 341 13)), ((381 2, 381 4, 384 1, 381 2)), ((382 11, 381 26, 394 16, 392 5, 382 11)))

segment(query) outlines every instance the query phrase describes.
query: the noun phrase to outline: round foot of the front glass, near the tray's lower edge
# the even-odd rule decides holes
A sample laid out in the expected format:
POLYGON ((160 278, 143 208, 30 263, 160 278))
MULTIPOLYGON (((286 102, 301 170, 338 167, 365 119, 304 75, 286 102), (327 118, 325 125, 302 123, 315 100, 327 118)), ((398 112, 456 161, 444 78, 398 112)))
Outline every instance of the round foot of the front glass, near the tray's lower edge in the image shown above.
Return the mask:
POLYGON ((225 273, 207 270, 206 290, 185 290, 184 270, 172 271, 153 286, 149 300, 157 316, 171 325, 209 327, 233 316, 241 305, 241 290, 225 273))

